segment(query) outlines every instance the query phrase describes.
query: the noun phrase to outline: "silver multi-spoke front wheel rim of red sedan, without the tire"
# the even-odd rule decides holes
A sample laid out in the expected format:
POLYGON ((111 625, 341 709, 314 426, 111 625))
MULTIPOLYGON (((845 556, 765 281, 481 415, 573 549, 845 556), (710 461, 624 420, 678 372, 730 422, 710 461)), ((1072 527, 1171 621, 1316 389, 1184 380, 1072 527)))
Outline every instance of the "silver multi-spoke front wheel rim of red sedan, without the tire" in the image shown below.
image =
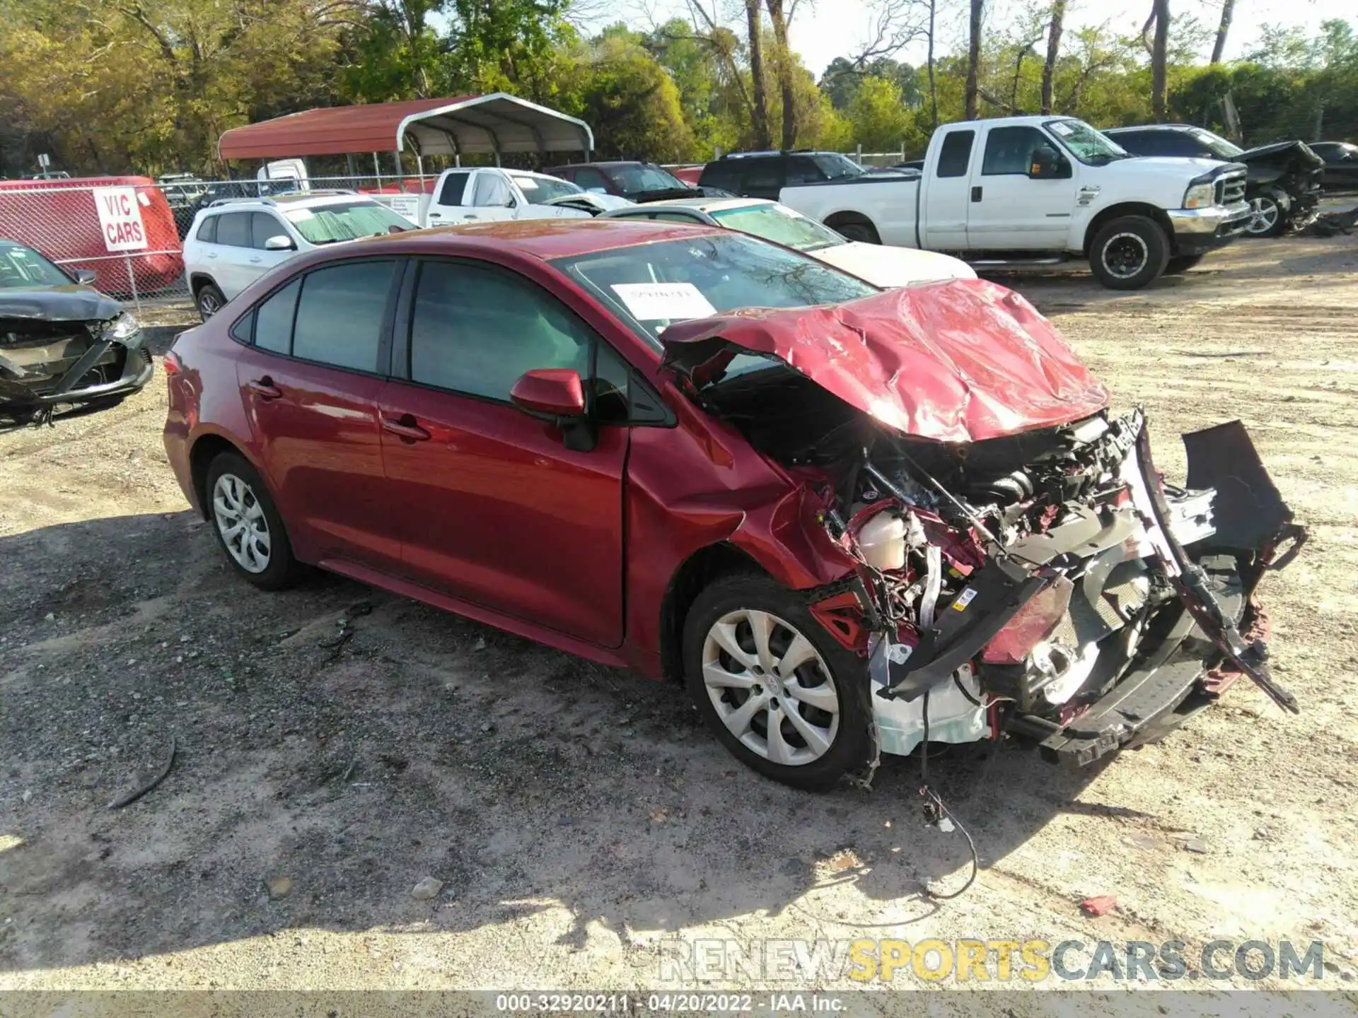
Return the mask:
POLYGON ((830 752, 839 694, 820 652, 771 612, 739 608, 708 630, 702 681, 721 723, 770 763, 799 767, 830 752))

